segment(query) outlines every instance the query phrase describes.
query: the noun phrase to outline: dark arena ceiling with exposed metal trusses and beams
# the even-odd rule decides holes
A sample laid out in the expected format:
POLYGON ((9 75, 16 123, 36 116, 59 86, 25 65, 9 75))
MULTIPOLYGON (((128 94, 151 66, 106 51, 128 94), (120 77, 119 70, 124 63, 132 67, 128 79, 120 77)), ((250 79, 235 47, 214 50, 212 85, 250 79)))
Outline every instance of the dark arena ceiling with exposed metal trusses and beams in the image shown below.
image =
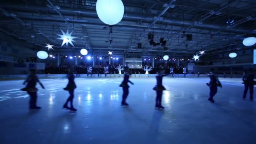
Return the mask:
POLYGON ((0 31, 38 49, 50 43, 55 52, 87 48, 103 55, 111 49, 120 56, 128 52, 186 56, 200 50, 232 51, 230 45, 256 34, 255 0, 122 1, 124 17, 111 28, 98 18, 96 0, 1 0, 0 31), (56 35, 61 34, 60 28, 74 31, 75 47, 61 47, 56 35), (168 50, 150 45, 148 34, 154 35, 155 42, 163 37, 168 50), (192 40, 187 40, 187 34, 192 34, 192 40))

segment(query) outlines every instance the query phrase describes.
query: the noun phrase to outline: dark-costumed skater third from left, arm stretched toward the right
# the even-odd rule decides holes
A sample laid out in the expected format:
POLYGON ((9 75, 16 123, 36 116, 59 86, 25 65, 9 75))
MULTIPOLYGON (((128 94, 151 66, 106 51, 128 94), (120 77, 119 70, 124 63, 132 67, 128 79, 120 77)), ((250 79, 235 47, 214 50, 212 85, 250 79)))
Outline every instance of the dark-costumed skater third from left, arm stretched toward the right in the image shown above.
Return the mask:
POLYGON ((128 82, 131 83, 132 85, 134 85, 130 80, 129 80, 129 68, 128 67, 125 67, 124 68, 124 78, 123 78, 123 82, 119 85, 120 87, 123 87, 123 98, 122 98, 122 103, 121 105, 122 106, 128 106, 129 104, 126 103, 126 98, 129 94, 129 85, 128 85, 128 82))

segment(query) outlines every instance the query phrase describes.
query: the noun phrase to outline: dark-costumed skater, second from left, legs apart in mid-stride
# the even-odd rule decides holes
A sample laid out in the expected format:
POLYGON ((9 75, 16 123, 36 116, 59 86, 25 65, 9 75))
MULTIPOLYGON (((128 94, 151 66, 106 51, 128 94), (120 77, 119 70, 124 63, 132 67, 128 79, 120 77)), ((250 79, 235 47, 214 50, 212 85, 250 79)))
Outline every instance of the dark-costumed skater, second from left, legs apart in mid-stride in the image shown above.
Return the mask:
POLYGON ((74 90, 75 88, 77 88, 76 84, 75 84, 75 76, 73 75, 72 69, 69 69, 69 73, 67 74, 67 78, 69 80, 66 88, 64 88, 65 91, 69 91, 69 97, 66 101, 66 103, 63 105, 64 109, 69 109, 71 111, 77 111, 77 109, 74 108, 73 106, 73 99, 74 99, 74 90), (68 102, 70 101, 70 107, 68 107, 68 102))

